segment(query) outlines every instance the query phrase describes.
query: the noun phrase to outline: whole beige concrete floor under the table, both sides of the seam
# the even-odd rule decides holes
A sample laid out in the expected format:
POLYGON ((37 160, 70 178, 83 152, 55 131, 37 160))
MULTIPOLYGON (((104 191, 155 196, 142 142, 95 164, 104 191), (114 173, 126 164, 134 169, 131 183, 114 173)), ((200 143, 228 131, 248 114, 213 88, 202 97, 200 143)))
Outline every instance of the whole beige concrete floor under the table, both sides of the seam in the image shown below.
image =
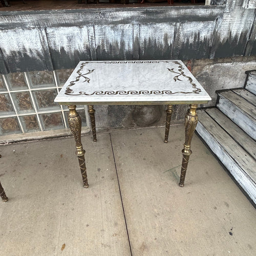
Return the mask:
POLYGON ((0 254, 256 255, 256 210, 197 136, 179 187, 183 125, 170 133, 83 136, 88 189, 73 138, 0 146, 0 254))

